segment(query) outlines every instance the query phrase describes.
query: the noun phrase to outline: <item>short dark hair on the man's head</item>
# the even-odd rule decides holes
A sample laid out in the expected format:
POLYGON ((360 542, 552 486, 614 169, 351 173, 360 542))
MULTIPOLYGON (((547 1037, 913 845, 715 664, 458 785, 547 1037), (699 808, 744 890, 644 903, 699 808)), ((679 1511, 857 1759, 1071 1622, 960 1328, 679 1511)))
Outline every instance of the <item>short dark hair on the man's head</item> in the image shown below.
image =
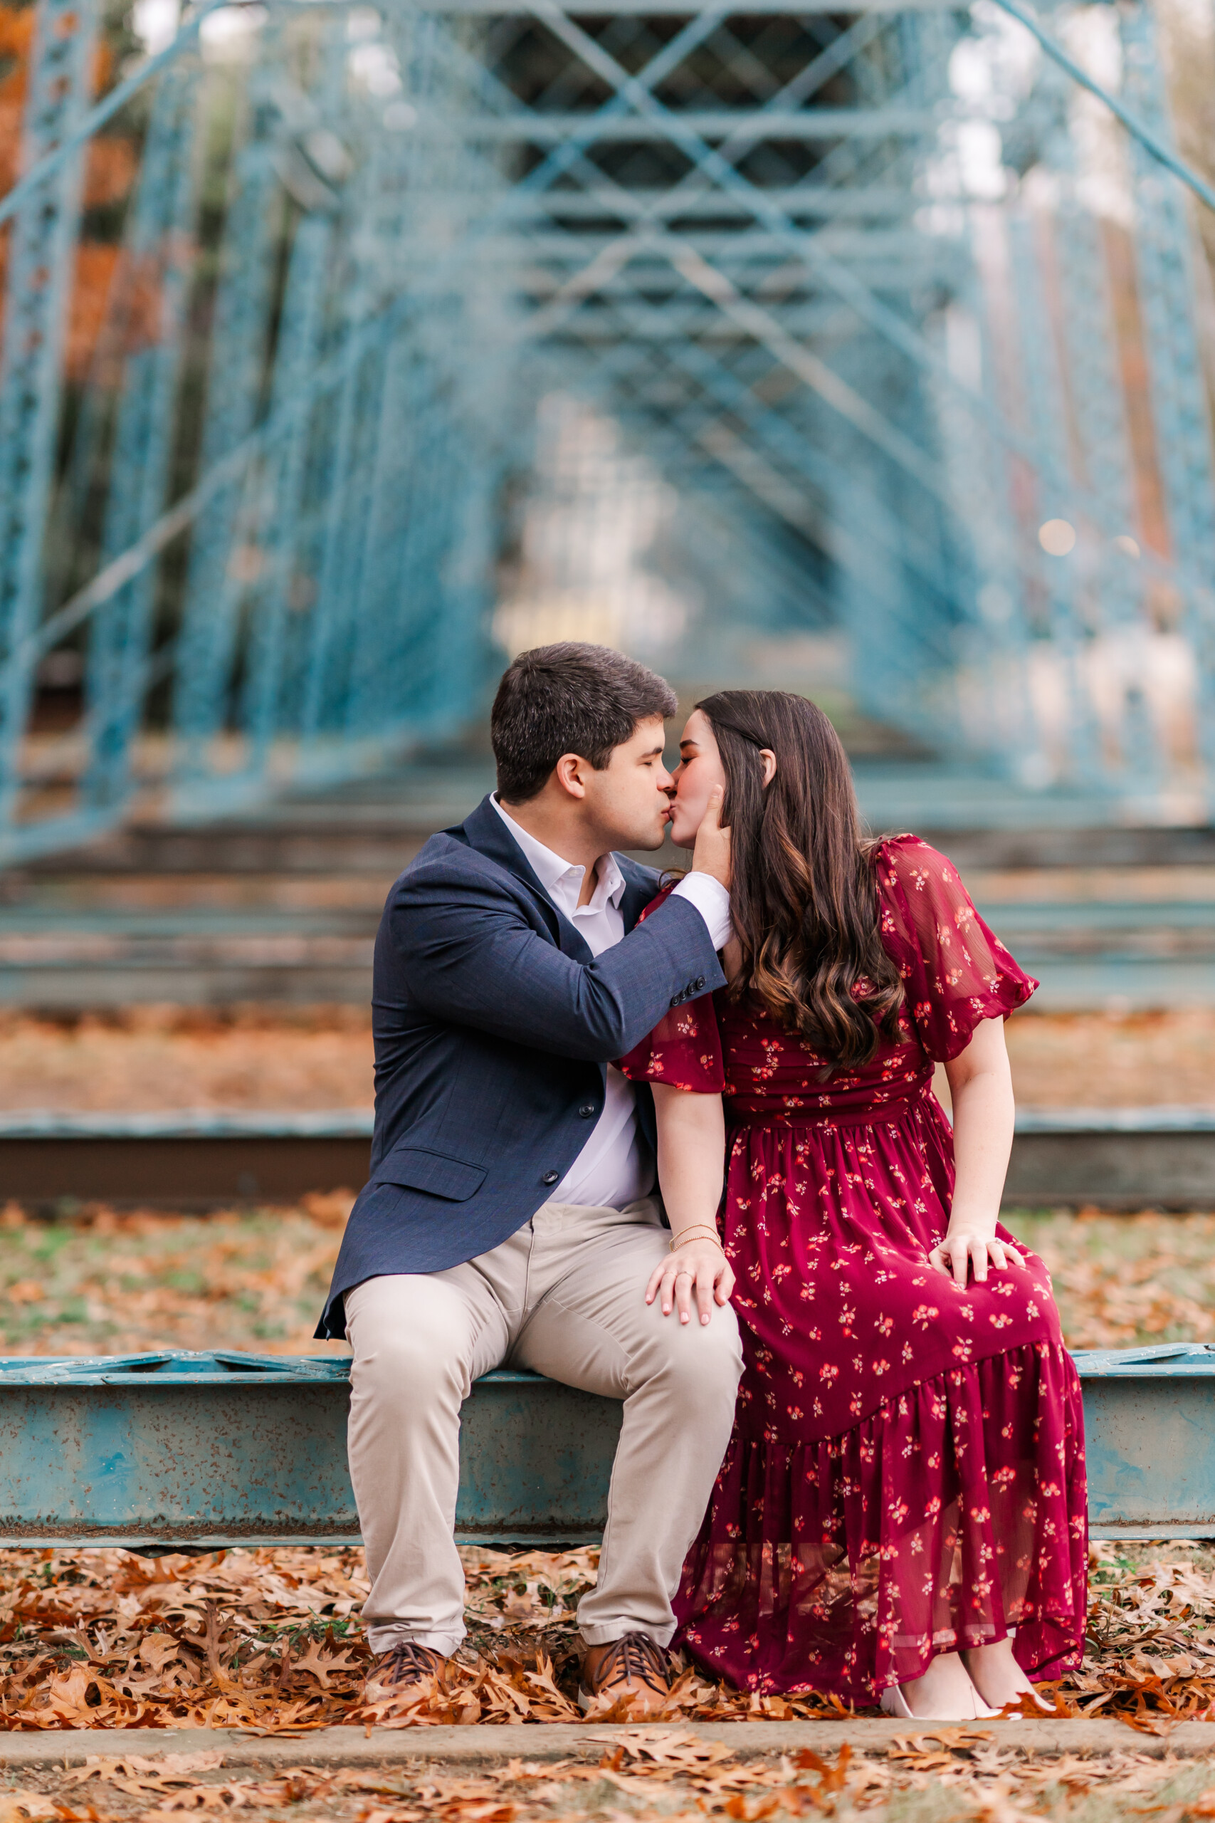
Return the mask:
POLYGON ((608 645, 537 645, 503 673, 490 711, 497 793, 526 804, 563 753, 577 753, 597 773, 638 722, 674 715, 665 678, 608 645))

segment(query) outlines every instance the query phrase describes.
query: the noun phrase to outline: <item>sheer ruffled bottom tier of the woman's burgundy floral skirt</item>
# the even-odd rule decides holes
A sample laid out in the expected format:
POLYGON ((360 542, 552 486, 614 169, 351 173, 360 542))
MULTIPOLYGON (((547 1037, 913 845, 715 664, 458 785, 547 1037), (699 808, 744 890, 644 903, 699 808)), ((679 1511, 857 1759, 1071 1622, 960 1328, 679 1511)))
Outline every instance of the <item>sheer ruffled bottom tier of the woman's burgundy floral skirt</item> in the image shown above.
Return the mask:
POLYGON ((1027 1344, 898 1393, 840 1437, 730 1440, 678 1643, 743 1690, 869 1705, 940 1652, 1006 1639, 1078 1664, 1087 1601, 1080 1384, 1027 1344))

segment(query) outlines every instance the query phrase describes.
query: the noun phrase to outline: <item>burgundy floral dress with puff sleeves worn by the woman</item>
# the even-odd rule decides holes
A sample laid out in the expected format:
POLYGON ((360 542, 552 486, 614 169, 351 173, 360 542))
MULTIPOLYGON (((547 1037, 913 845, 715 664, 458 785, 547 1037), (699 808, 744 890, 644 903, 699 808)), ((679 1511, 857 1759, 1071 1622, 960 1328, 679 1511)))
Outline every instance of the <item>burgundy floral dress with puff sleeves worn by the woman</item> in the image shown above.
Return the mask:
POLYGON ((933 1065, 1036 981, 936 850, 896 837, 874 871, 905 1003, 867 1065, 827 1074, 725 994, 621 1065, 725 1094, 745 1371, 678 1643, 740 1688, 858 1705, 1013 1630, 1026 1672, 1062 1675, 1087 1588, 1080 1385, 1046 1267, 1018 1247, 1024 1269, 960 1291, 927 1260, 953 1196, 933 1065))

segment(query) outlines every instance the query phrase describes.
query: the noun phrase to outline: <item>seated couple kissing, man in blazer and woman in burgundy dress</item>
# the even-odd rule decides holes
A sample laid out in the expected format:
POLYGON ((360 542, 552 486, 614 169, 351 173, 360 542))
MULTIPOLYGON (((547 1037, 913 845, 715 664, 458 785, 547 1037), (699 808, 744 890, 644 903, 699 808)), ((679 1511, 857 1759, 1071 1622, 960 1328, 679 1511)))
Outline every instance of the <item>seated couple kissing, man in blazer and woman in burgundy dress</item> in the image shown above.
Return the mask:
POLYGON ((319 1336, 350 1340, 368 1688, 465 1637, 459 1409, 525 1367, 623 1400, 579 1701, 676 1644, 756 1692, 965 1719, 1080 1659, 1080 1389, 1000 1225, 1004 1019, 1036 983, 949 860, 865 840, 827 716, 519 654, 497 791, 375 944, 375 1138, 319 1336), (627 850, 665 833, 663 884, 627 850), (953 1127, 933 1094, 945 1066, 953 1127))

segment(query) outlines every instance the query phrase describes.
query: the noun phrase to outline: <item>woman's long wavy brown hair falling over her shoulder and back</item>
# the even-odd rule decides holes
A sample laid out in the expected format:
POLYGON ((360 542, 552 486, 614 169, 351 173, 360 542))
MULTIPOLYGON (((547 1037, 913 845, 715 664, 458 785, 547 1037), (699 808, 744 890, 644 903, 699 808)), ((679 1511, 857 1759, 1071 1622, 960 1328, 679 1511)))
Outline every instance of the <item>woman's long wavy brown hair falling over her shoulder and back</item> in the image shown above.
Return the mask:
POLYGON ((832 1065, 865 1063, 893 1035, 904 986, 878 933, 876 844, 862 840, 840 736, 805 696, 723 689, 696 704, 725 767, 730 915, 754 994, 832 1065), (763 784, 760 749, 776 755, 763 784))

